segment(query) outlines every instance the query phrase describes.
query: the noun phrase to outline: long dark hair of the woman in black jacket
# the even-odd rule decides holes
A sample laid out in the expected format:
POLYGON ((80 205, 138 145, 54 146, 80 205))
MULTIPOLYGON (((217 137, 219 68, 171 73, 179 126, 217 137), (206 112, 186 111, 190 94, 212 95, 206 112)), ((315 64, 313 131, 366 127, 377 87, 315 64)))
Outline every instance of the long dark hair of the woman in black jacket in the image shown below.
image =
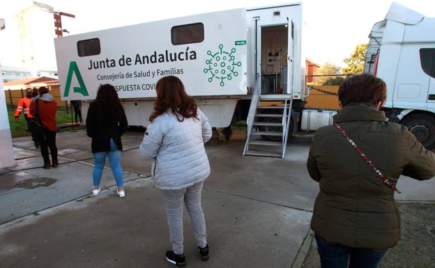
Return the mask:
POLYGON ((116 89, 111 84, 98 87, 97 97, 94 101, 97 119, 102 123, 120 122, 124 111, 116 89))

